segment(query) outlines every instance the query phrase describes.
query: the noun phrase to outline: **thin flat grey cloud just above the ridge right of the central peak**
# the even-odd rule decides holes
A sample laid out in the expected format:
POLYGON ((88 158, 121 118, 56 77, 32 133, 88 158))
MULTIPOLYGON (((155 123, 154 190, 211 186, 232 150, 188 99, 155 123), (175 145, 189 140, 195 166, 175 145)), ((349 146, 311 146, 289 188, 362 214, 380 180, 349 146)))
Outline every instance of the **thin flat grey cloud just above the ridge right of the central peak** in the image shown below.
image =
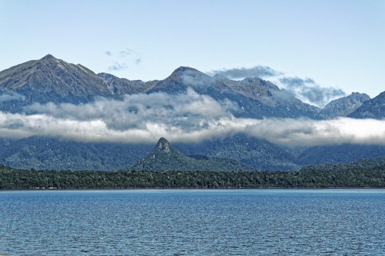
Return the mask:
POLYGON ((276 71, 269 66, 257 65, 253 67, 237 67, 237 68, 223 68, 218 70, 211 70, 209 74, 222 74, 228 78, 244 78, 247 76, 277 76, 283 74, 280 71, 276 71))

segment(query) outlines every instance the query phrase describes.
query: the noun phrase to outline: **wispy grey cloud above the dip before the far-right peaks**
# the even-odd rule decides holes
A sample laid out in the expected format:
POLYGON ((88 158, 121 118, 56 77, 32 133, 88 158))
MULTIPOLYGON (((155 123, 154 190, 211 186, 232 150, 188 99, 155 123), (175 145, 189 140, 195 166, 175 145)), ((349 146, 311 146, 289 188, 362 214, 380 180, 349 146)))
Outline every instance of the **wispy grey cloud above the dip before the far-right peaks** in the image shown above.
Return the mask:
POLYGON ((279 81, 296 97, 320 107, 325 106, 332 99, 346 95, 339 88, 321 87, 311 78, 281 77, 279 81))

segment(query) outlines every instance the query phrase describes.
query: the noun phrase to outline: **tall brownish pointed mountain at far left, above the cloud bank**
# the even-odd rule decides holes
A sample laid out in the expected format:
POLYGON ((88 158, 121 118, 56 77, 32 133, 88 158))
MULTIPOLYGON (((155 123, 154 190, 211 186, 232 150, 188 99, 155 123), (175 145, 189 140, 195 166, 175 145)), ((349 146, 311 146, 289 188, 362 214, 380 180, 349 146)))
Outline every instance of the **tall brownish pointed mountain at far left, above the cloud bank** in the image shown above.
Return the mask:
POLYGON ((22 102, 2 101, 5 110, 20 110, 33 102, 88 102, 94 96, 110 96, 107 86, 93 71, 57 59, 51 54, 0 72, 0 90, 22 95, 22 102))

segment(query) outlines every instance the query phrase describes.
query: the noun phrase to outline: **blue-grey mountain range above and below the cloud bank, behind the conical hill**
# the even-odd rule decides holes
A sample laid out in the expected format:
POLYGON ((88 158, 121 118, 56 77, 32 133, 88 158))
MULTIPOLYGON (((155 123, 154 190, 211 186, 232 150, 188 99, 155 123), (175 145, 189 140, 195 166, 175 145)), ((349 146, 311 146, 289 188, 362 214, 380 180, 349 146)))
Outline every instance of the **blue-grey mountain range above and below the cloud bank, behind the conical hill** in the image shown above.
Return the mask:
MULTIPOLYGON (((188 88, 219 102, 233 102, 236 107, 231 111, 236 117, 385 117, 385 92, 372 99, 367 94, 353 92, 319 108, 259 77, 232 80, 221 74, 210 76, 181 66, 163 80, 128 80, 109 73, 95 73, 81 64, 68 63, 51 54, 0 71, 0 111, 24 112, 26 106, 36 102, 80 104, 99 97, 120 100, 125 94, 154 92, 178 95, 188 88)), ((116 170, 145 157, 152 149, 148 143, 79 142, 45 136, 2 139, 0 144, 1 163, 36 169, 116 170)), ((231 158, 236 161, 234 166, 244 164, 263 170, 298 170, 304 164, 338 163, 385 155, 385 147, 379 145, 289 148, 243 133, 173 144, 180 151, 180 160, 201 167, 202 161, 211 164, 231 158)))

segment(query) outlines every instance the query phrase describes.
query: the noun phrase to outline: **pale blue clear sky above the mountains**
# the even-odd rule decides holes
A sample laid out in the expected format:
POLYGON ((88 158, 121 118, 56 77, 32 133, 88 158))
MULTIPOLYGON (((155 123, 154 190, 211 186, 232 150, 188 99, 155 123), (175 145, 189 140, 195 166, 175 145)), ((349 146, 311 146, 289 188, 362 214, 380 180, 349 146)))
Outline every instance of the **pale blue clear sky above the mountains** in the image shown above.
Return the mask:
POLYGON ((0 70, 51 53, 128 79, 266 65, 385 90, 385 0, 0 0, 0 28, 0 70))

